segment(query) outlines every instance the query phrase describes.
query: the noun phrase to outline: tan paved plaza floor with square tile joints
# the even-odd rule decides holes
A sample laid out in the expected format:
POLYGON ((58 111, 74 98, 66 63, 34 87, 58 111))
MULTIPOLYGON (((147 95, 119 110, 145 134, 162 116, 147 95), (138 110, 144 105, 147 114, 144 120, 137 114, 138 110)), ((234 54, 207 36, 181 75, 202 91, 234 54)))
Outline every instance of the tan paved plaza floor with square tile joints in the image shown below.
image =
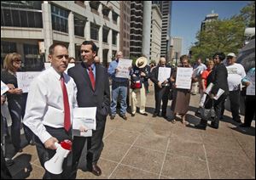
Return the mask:
MULTIPOLYGON (((195 117, 198 102, 199 95, 191 95, 187 126, 180 121, 172 124, 161 117, 153 118, 154 91, 151 87, 147 98, 148 116, 127 114, 127 121, 119 115, 112 121, 108 116, 105 146, 98 162, 102 176, 79 170, 77 178, 255 179, 255 121, 253 127, 237 127, 230 111, 225 110, 224 121, 220 121, 218 129, 195 129, 200 121, 195 117)), ((169 117, 170 104, 171 101, 167 111, 169 117)), ((44 169, 35 146, 26 146, 15 159, 26 154, 30 155, 32 165, 27 178, 41 179, 44 169)))

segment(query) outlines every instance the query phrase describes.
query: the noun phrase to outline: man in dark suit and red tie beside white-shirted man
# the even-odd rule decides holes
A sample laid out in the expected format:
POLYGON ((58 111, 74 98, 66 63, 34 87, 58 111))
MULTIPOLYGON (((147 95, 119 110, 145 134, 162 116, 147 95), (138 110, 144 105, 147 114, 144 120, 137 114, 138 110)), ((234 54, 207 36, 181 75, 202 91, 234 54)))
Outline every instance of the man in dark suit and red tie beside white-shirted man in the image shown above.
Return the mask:
POLYGON ((81 63, 67 71, 73 77, 78 87, 79 107, 96 107, 96 131, 92 131, 91 138, 73 138, 73 177, 76 176, 79 158, 87 139, 86 169, 96 176, 102 171, 97 166, 103 149, 103 134, 105 123, 110 109, 110 94, 108 72, 102 65, 94 63, 96 45, 91 41, 84 41, 80 48, 81 63))

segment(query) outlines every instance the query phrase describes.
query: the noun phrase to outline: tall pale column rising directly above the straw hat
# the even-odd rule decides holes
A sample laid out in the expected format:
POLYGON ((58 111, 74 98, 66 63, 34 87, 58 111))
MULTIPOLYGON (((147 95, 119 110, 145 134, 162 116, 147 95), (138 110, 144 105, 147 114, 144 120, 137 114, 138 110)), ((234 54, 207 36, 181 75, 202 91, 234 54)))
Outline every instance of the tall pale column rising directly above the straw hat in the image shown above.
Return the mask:
MULTIPOLYGON (((143 2, 143 48, 142 53, 149 59, 150 54, 150 30, 151 30, 151 1, 143 2)), ((149 63, 149 62, 148 62, 149 63)))

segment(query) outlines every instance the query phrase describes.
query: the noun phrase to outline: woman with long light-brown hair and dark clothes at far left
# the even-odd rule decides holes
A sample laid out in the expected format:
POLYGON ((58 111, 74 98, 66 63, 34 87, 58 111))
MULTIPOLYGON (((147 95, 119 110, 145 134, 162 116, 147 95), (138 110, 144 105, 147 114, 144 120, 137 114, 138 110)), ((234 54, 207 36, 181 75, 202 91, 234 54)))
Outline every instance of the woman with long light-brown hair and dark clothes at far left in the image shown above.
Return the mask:
POLYGON ((21 67, 21 56, 19 53, 8 53, 3 61, 3 71, 1 80, 9 87, 7 92, 8 108, 12 119, 11 138, 15 146, 15 152, 21 152, 20 125, 22 118, 23 105, 22 90, 18 88, 16 72, 21 67))

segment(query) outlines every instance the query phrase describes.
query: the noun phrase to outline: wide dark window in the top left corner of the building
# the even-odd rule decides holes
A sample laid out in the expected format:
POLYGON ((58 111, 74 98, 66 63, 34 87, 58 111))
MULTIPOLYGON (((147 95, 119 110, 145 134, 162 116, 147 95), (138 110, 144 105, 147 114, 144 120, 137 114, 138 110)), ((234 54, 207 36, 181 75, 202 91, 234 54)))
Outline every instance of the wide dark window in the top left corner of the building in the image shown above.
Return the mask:
POLYGON ((41 2, 2 1, 1 25, 43 28, 41 2))

